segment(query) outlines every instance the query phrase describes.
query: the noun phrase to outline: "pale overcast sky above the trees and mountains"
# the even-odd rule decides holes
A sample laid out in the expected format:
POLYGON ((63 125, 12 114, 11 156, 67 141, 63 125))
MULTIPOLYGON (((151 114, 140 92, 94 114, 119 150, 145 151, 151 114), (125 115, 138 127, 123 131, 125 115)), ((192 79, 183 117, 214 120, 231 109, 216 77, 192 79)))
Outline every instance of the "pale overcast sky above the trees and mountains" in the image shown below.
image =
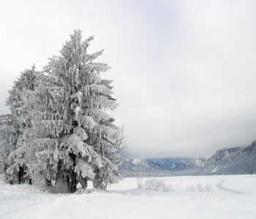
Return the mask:
POLYGON ((112 69, 138 157, 208 157, 256 139, 256 1, 0 1, 0 114, 19 72, 76 28, 112 69))

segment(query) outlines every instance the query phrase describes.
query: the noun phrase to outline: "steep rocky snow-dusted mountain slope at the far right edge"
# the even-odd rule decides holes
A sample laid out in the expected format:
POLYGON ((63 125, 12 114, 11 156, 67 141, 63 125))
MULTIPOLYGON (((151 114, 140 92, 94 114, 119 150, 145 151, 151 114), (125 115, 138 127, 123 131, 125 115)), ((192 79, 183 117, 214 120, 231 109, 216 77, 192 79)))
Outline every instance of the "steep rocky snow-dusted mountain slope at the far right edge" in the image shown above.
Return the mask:
POLYGON ((256 142, 247 147, 218 150, 208 158, 206 174, 256 174, 256 142))

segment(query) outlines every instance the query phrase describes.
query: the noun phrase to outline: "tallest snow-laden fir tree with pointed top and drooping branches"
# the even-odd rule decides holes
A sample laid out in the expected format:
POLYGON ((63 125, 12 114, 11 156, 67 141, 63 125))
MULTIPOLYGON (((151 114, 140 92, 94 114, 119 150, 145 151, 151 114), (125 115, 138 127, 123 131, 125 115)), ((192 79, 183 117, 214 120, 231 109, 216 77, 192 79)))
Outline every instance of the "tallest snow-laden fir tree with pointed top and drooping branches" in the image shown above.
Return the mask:
MULTIPOLYGON (((59 57, 50 59, 45 73, 48 82, 39 85, 41 103, 37 107, 37 169, 48 181, 67 183, 76 191, 78 181, 86 188, 105 189, 118 177, 118 153, 113 144, 118 127, 105 110, 114 110, 110 81, 100 72, 107 64, 93 62, 102 50, 88 54, 93 37, 82 41, 75 31, 64 44, 59 57)), ((43 81, 43 80, 42 80, 43 81)))

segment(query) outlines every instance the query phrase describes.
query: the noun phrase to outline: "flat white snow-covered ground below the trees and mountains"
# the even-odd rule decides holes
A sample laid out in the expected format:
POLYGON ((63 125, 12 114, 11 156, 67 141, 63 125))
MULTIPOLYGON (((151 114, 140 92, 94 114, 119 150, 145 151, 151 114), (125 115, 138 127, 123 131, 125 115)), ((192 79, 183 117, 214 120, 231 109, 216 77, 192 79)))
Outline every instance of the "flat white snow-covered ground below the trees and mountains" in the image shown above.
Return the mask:
POLYGON ((108 192, 50 194, 0 183, 0 218, 256 218, 256 175, 162 177, 168 193, 136 188, 127 178, 108 192), (196 184, 212 191, 189 191, 196 184))

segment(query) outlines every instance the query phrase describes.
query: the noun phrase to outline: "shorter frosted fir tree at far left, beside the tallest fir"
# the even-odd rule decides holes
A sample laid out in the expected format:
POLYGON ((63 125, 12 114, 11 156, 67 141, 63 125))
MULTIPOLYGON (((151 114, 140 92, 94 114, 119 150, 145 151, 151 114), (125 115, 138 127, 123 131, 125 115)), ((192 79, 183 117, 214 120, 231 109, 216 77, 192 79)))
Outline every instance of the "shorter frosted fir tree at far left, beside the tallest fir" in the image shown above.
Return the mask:
POLYGON ((10 153, 9 166, 6 170, 7 180, 25 183, 29 163, 29 141, 31 139, 31 109, 34 104, 35 67, 20 73, 20 77, 10 91, 7 107, 10 108, 11 123, 8 124, 7 139, 10 153))

